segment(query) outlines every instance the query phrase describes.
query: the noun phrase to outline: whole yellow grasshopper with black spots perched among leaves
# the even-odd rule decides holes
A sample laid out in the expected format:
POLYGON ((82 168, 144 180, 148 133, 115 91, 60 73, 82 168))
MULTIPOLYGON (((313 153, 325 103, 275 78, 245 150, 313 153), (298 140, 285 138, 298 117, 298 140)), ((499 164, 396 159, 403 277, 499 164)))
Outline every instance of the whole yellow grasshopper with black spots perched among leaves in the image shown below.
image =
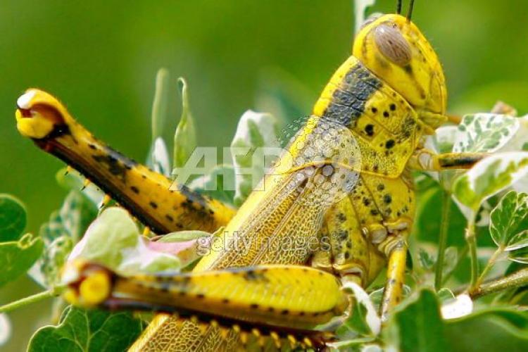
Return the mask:
POLYGON ((412 5, 404 16, 398 1, 396 13, 363 24, 305 125, 238 210, 171 187, 96 139, 54 96, 28 89, 17 101, 19 132, 153 232, 225 227, 218 238, 227 246, 191 272, 122 277, 70 263, 67 301, 163 312, 131 351, 324 348, 351 304, 341 285, 367 287, 386 268, 386 318, 402 298, 415 213, 410 172, 467 169, 485 157, 424 148, 453 119, 441 63, 411 22, 412 5), (243 253, 234 246, 241 239, 243 253))

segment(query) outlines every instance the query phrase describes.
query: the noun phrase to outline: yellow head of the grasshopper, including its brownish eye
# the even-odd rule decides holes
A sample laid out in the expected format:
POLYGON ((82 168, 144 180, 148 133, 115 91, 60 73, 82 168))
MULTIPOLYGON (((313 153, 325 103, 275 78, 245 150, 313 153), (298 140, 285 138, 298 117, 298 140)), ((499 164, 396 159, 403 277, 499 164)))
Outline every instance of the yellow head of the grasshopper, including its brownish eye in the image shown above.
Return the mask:
MULTIPOLYGON (((391 14, 367 20, 356 37, 353 55, 419 115, 445 114, 447 92, 440 61, 422 32, 406 17, 391 14)), ((425 122, 438 127, 434 119, 425 122)))

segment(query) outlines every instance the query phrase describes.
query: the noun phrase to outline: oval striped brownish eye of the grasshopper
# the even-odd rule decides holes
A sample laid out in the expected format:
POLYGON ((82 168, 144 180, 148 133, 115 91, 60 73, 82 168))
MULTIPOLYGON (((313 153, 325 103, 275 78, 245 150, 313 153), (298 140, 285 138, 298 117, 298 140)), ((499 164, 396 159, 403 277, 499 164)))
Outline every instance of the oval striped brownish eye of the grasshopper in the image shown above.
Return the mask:
POLYGON ((396 65, 405 66, 410 62, 409 43, 398 30, 398 27, 386 24, 377 26, 374 32, 374 41, 379 51, 396 65))

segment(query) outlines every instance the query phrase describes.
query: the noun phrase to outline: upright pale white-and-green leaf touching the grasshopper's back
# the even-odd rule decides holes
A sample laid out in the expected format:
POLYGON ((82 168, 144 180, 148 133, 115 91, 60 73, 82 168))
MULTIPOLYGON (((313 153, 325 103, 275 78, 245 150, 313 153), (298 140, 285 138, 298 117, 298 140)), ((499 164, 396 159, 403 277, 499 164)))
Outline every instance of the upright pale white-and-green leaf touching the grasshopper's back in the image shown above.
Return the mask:
MULTIPOLYGON (((265 169, 270 167, 272 161, 267 159, 272 155, 271 149, 276 152, 280 150, 277 140, 277 119, 268 113, 246 111, 239 120, 237 132, 231 142, 236 206, 244 203, 247 196, 262 180, 265 169)), ((278 154, 276 153, 277 156, 278 154)))

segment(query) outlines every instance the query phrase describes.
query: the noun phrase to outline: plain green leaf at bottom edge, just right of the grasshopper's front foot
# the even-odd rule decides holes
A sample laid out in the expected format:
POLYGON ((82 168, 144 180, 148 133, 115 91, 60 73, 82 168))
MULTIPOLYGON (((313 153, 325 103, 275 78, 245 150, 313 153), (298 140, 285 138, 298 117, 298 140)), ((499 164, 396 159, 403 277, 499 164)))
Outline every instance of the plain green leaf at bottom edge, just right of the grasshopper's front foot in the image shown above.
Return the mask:
POLYGON ((387 322, 384 337, 396 351, 447 351, 434 293, 424 289, 398 306, 387 322))

